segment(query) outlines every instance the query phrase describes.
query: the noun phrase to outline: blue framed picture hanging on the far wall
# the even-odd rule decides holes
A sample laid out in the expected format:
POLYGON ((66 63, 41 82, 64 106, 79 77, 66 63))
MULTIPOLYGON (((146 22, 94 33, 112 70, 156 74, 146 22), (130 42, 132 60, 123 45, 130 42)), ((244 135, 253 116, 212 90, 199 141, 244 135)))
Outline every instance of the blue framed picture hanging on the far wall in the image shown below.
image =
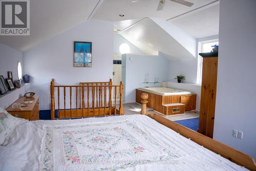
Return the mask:
POLYGON ((74 67, 92 67, 92 42, 74 41, 74 67))

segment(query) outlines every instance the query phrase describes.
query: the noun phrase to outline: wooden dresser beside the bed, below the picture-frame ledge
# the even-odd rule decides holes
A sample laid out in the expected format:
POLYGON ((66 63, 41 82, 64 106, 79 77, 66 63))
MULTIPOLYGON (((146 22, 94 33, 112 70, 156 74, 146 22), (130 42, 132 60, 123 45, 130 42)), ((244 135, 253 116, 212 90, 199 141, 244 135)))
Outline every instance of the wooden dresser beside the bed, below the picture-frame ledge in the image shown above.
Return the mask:
POLYGON ((33 101, 33 102, 21 108, 12 108, 12 105, 11 105, 9 106, 9 108, 6 109, 6 111, 18 118, 24 118, 28 120, 38 120, 39 119, 39 97, 38 96, 29 97, 29 98, 20 97, 14 103, 22 103, 25 101, 33 101))

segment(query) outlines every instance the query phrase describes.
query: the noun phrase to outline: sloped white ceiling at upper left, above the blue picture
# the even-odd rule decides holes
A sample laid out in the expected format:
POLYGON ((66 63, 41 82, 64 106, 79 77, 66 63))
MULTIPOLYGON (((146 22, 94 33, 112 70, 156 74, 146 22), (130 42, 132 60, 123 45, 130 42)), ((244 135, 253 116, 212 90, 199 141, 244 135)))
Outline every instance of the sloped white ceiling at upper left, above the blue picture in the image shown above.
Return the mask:
POLYGON ((0 42, 26 51, 88 19, 98 0, 30 1, 30 36, 0 36, 0 42))

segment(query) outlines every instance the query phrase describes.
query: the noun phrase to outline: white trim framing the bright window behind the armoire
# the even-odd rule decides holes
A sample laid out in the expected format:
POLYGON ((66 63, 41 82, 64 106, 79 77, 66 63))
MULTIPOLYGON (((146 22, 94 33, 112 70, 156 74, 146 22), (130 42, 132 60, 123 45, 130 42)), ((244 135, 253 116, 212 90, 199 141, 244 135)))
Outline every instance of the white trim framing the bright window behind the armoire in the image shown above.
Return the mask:
POLYGON ((203 45, 211 42, 219 41, 219 39, 211 39, 198 42, 198 62, 197 62, 197 84, 202 84, 203 57, 199 55, 203 51, 203 45))

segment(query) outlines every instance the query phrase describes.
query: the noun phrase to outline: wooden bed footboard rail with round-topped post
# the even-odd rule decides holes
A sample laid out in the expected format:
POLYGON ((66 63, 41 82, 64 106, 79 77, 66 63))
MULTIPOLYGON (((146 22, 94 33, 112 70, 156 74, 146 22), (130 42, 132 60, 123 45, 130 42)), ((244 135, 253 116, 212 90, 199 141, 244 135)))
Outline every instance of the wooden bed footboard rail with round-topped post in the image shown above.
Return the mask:
POLYGON ((244 166, 250 170, 256 170, 256 163, 254 159, 246 155, 237 149, 234 149, 228 145, 225 145, 219 141, 216 141, 214 139, 211 139, 203 134, 200 134, 198 132, 195 132, 193 130, 188 129, 187 127, 180 125, 174 121, 171 121, 164 116, 161 116, 160 114, 147 114, 146 105, 148 97, 146 93, 141 94, 141 99, 143 101, 143 105, 141 107, 141 114, 147 115, 148 117, 151 117, 152 119, 156 120, 157 122, 161 123, 162 125, 165 125, 169 127, 169 129, 174 130, 175 132, 179 133, 180 135, 190 138, 192 141, 198 143, 199 145, 204 146, 205 148, 209 149, 210 151, 221 155, 222 157, 237 163, 241 166, 244 166), (143 110, 142 110, 143 109, 143 110))

